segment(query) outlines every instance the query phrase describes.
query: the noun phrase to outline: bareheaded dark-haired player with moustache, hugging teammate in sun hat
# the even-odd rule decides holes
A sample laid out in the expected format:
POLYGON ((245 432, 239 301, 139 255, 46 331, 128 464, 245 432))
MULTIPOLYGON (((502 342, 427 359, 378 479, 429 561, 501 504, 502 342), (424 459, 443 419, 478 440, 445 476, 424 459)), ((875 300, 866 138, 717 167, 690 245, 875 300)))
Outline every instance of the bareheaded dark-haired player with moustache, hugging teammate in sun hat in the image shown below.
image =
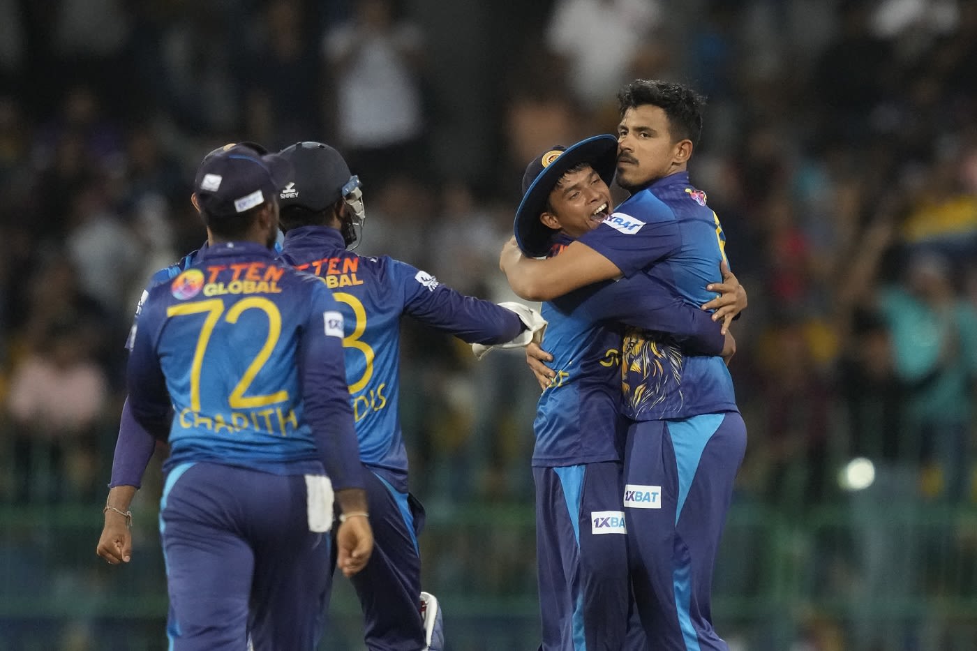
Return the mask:
MULTIPOLYGON (((618 99, 616 181, 631 196, 560 255, 534 260, 510 243, 500 267, 532 300, 643 276, 699 306, 726 261, 719 218, 687 171, 702 99, 686 86, 640 79, 618 99)), ((644 325, 625 330, 621 373, 624 513, 643 628, 656 649, 727 651, 712 628, 710 588, 746 446, 729 370, 721 357, 690 356, 644 325)))

